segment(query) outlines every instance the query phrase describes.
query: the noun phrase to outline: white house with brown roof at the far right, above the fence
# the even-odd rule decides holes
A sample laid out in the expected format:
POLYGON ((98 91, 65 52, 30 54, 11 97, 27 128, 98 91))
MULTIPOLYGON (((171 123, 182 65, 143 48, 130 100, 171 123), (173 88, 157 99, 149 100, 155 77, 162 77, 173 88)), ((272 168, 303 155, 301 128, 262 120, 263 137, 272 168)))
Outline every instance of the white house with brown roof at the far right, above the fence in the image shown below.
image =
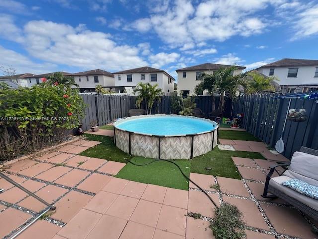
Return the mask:
POLYGON ((284 58, 256 70, 266 76, 276 76, 282 93, 318 90, 318 60, 284 58))

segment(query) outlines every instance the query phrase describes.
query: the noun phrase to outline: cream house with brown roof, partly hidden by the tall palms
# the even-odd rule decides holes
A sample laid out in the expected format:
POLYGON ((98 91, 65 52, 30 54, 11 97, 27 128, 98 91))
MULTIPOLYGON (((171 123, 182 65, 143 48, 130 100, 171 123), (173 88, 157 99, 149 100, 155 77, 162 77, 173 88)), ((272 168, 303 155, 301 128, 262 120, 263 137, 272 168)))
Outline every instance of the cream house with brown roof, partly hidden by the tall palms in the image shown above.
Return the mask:
MULTIPOLYGON (((213 74, 214 71, 220 68, 231 67, 231 65, 222 65, 215 63, 204 63, 196 66, 177 69, 178 74, 178 92, 182 91, 183 95, 194 94, 195 87, 202 80, 202 73, 213 74)), ((234 75, 241 74, 246 68, 245 66, 235 66, 237 69, 233 72, 234 75)))

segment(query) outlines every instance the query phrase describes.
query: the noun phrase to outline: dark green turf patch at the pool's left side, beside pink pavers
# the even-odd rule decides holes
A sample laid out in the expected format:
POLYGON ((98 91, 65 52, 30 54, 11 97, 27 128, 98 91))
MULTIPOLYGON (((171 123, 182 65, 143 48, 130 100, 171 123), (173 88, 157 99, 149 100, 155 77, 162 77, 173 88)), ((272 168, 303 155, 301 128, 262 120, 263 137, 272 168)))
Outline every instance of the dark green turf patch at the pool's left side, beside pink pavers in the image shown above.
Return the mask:
POLYGON ((117 148, 114 144, 113 138, 111 137, 87 133, 85 133, 84 136, 87 140, 100 141, 102 143, 85 150, 79 155, 92 158, 107 159, 121 163, 126 163, 125 159, 130 160, 132 158, 132 156, 117 148))

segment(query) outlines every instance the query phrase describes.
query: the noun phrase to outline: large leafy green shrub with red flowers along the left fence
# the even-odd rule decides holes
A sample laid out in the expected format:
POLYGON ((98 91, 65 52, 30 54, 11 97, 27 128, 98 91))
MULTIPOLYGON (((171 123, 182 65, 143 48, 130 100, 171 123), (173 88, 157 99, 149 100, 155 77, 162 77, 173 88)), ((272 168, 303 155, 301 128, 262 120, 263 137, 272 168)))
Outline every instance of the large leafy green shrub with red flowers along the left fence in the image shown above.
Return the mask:
POLYGON ((85 105, 78 90, 43 81, 31 88, 0 88, 0 160, 63 140, 79 125, 85 105))

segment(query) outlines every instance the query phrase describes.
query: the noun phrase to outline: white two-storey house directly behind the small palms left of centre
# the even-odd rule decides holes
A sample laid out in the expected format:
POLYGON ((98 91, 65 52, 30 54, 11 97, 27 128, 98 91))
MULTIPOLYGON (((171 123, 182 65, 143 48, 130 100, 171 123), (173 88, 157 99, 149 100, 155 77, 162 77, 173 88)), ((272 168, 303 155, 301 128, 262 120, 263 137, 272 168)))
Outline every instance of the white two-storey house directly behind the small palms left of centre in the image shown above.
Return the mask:
POLYGON ((139 82, 158 84, 163 92, 173 92, 175 79, 164 70, 149 66, 118 71, 115 75, 115 87, 120 88, 120 92, 131 92, 139 82))

